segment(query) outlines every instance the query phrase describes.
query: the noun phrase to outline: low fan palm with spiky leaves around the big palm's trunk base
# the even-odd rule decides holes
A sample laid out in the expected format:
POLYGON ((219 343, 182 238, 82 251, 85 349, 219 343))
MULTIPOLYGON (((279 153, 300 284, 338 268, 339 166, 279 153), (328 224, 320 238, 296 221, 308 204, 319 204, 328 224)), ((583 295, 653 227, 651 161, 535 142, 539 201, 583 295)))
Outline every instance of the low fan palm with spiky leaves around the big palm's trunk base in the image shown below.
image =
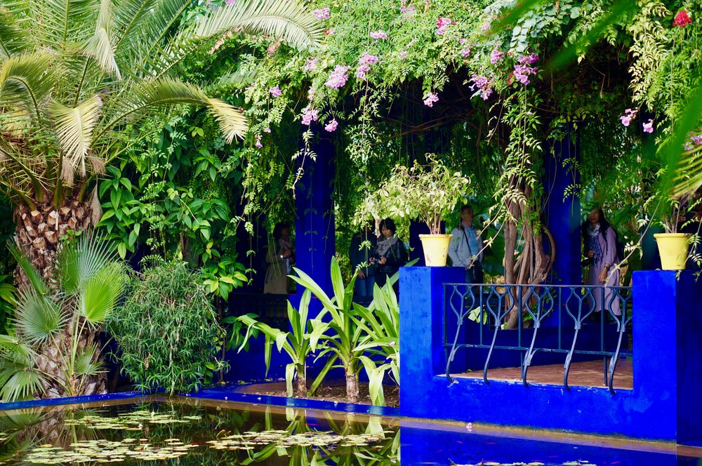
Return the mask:
POLYGON ((98 331, 124 291, 124 265, 99 238, 81 235, 65 244, 47 283, 17 248, 28 277, 20 288, 13 335, 0 335, 0 397, 50 397, 104 392, 98 331))

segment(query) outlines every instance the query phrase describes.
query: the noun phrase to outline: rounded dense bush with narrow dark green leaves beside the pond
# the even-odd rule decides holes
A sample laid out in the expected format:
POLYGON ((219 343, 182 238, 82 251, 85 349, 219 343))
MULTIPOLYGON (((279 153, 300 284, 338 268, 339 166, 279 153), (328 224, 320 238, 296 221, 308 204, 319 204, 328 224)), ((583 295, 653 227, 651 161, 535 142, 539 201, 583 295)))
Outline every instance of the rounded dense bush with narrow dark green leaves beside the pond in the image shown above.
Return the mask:
POLYGON ((155 259, 135 277, 124 307, 110 320, 121 370, 141 390, 190 392, 225 363, 223 329, 201 278, 185 262, 155 259))

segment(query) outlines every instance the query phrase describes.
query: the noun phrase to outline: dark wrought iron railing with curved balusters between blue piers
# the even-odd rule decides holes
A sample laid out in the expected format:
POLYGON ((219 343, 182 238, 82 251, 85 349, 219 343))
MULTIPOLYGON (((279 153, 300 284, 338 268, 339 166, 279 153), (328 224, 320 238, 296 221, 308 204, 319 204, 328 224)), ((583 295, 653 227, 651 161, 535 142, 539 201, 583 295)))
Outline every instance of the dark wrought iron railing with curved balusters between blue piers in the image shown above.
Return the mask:
POLYGON ((522 383, 529 387, 527 372, 534 356, 539 352, 561 353, 565 355, 563 385, 570 390, 568 375, 574 356, 602 357, 604 385, 614 394, 614 373, 631 319, 631 287, 444 284, 446 377, 453 381, 451 363, 456 359, 459 350, 477 348, 487 351, 483 380, 489 383, 491 357, 496 349, 503 349, 519 352, 522 383), (597 312, 598 301, 603 303, 601 307, 604 307, 604 312, 597 312), (617 310, 621 311, 621 314, 617 310), (505 330, 503 327, 510 312, 516 313, 517 318, 513 321, 516 321, 517 327, 505 330), (528 332, 524 326, 525 320, 531 327, 528 332), (607 325, 610 320, 611 324, 616 326, 607 325), (468 323, 479 326, 479 331, 477 335, 472 335, 472 339, 460 341, 462 331, 466 330, 464 326, 468 323), (576 348, 583 324, 599 324, 598 345, 590 345, 585 349, 576 348), (606 327, 616 328, 616 343, 612 345, 606 345, 606 327), (555 340, 552 345, 536 344, 537 335, 543 333, 544 328, 556 328, 552 334, 556 333, 557 338, 552 339, 555 340), (516 335, 516 342, 497 344, 500 332, 505 336, 509 333, 509 340, 512 341, 516 335))

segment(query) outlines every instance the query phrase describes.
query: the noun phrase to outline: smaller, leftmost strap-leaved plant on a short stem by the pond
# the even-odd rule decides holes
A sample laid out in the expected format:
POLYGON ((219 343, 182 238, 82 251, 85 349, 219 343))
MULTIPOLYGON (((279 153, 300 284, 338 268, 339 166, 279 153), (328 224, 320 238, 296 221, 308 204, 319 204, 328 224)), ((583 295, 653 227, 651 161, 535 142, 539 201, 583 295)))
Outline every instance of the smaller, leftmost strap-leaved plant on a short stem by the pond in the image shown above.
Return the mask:
MULTIPOLYGON (((285 352, 291 359, 291 362, 285 366, 285 386, 288 396, 293 396, 293 380, 297 379, 295 389, 296 397, 305 397, 307 395, 307 358, 319 348, 319 339, 322 338, 324 332, 329 328, 329 324, 322 321, 320 317, 315 319, 309 318, 310 299, 312 295, 309 290, 305 290, 300 299, 300 309, 295 309, 288 301, 288 319, 290 321, 291 332, 285 332, 278 328, 259 322, 256 316, 247 314, 244 316, 230 319, 232 322, 240 322, 246 326, 246 334, 243 339, 238 332, 232 333, 232 346, 238 344, 239 351, 245 348, 249 338, 256 336, 257 333, 265 335, 265 365, 266 373, 270 368, 270 355, 273 344, 275 343, 279 352, 285 352)), ((319 373, 317 379, 312 384, 311 392, 314 392, 319 383, 322 382, 329 368, 325 367, 319 373)))

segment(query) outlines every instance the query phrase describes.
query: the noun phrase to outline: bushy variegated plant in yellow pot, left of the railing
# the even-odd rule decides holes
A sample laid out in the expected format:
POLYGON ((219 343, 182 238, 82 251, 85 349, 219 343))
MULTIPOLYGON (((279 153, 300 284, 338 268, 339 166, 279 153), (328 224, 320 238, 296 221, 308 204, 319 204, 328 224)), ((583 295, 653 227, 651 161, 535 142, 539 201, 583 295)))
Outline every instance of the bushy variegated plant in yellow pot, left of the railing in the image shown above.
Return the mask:
POLYGON ((414 161, 411 167, 396 165, 390 178, 366 198, 360 211, 424 222, 430 232, 419 235, 425 263, 443 267, 451 235, 445 234, 442 220, 453 213, 456 204, 467 202, 470 179, 451 171, 435 154, 427 154, 426 158, 426 164, 414 161))

